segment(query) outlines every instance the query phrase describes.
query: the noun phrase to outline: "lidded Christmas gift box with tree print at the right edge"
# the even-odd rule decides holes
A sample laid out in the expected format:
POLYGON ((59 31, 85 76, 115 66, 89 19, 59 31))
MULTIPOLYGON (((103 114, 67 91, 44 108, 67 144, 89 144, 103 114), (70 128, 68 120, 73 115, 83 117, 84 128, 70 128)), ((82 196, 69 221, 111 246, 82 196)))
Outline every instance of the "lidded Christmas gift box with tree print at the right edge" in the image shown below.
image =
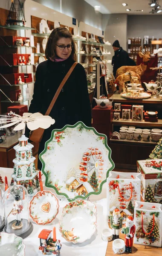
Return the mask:
POLYGON ((141 200, 162 203, 162 159, 137 161, 141 176, 141 200))

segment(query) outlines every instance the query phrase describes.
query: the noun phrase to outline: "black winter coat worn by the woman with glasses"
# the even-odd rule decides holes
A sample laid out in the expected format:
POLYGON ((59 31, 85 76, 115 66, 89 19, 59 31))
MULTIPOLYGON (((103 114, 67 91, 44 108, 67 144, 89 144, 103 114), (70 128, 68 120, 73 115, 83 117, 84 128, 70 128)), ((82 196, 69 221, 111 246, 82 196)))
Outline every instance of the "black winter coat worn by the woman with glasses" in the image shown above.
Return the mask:
MULTIPOLYGON (((71 58, 68 58, 61 62, 47 60, 38 65, 29 113, 40 112, 43 115, 46 113, 56 90, 74 62, 71 58)), ((44 144, 51 137, 53 129, 61 129, 65 125, 74 125, 78 121, 91 126, 87 77, 81 64, 78 63, 76 65, 69 79, 64 84, 49 116, 55 119, 55 124, 44 131, 38 154, 43 151, 44 144)), ((39 160, 38 169, 41 169, 39 160)))

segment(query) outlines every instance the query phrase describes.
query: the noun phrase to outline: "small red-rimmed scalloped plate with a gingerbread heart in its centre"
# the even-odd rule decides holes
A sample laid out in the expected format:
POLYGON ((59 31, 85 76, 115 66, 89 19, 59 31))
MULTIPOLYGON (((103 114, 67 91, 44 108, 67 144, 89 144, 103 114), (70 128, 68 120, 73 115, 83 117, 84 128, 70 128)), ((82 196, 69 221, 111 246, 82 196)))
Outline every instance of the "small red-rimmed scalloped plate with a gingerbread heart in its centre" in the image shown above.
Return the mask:
POLYGON ((58 214, 58 198, 50 191, 40 191, 30 201, 30 217, 39 225, 51 223, 58 214))

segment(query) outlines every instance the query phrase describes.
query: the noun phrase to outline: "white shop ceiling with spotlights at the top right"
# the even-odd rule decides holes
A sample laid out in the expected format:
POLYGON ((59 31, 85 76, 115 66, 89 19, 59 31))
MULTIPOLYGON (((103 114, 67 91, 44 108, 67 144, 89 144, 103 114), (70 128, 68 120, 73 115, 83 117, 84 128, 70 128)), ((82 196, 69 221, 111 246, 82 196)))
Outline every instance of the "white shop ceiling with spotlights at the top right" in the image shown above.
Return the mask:
MULTIPOLYGON (((150 15, 150 11, 153 7, 150 7, 148 3, 150 0, 84 0, 91 6, 101 6, 101 13, 127 13, 128 15, 150 15), (122 6, 122 3, 127 3, 127 6, 122 6), (127 12, 126 9, 131 9, 127 12), (144 10, 144 12, 135 12, 135 10, 144 10)), ((159 0, 159 5, 162 9, 162 0, 159 0)), ((161 15, 162 12, 156 15, 161 15)))

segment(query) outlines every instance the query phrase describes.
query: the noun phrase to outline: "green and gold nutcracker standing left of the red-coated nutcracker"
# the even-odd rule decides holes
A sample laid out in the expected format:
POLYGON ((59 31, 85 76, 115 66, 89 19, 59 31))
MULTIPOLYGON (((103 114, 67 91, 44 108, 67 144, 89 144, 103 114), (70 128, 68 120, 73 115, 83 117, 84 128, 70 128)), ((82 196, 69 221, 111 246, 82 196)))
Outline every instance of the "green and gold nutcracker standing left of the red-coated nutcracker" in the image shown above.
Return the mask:
POLYGON ((110 216, 110 226, 113 229, 113 240, 119 238, 120 229, 122 228, 123 218, 118 208, 113 210, 113 216, 110 216))

